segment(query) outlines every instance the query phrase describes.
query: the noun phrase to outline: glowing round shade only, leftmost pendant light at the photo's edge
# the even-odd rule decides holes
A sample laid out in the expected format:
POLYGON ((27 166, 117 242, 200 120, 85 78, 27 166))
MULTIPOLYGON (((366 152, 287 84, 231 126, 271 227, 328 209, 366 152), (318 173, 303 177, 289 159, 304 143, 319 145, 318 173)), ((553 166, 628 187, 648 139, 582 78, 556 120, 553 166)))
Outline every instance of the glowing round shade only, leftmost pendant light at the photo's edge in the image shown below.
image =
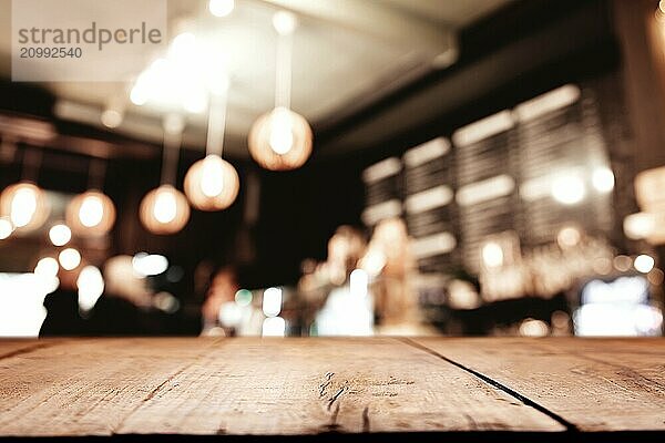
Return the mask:
POLYGON ((39 228, 51 212, 44 192, 29 182, 8 186, 0 196, 0 210, 18 231, 39 228))

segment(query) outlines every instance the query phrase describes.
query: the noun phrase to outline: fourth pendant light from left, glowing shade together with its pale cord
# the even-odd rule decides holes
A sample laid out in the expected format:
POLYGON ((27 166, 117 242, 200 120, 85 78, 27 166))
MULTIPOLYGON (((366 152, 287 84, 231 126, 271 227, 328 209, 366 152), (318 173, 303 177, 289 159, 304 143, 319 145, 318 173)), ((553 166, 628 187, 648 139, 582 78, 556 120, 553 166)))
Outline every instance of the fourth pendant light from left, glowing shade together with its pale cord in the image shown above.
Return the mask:
POLYGON ((194 163, 185 175, 185 194, 192 206, 201 210, 226 209, 238 195, 238 173, 222 158, 228 81, 224 83, 211 100, 206 156, 194 163))

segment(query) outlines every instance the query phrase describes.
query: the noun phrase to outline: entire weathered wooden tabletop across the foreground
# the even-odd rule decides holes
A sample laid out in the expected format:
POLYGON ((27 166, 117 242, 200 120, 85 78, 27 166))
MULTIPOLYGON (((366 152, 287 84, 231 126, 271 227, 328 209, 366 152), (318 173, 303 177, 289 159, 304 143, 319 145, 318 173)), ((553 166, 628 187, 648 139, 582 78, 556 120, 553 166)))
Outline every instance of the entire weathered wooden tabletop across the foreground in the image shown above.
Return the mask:
POLYGON ((665 339, 0 341, 1 436, 513 431, 665 441, 665 339))

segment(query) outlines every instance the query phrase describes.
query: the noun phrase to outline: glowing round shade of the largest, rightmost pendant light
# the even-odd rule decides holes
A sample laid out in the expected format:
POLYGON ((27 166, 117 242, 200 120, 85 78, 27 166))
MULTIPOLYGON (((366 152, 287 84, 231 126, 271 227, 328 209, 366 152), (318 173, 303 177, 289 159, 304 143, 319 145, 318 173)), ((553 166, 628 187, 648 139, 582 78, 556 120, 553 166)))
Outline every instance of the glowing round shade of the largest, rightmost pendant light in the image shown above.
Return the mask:
POLYGON ((252 126, 249 153, 267 169, 296 169, 309 158, 311 138, 311 127, 305 117, 286 107, 276 107, 252 126))

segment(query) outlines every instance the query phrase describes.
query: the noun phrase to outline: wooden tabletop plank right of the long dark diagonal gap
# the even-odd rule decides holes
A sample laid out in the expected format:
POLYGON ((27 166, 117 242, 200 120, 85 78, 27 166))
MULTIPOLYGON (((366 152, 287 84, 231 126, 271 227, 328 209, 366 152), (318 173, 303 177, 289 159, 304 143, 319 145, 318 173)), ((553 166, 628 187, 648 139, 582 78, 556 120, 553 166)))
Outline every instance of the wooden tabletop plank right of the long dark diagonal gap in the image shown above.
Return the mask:
POLYGON ((665 430, 663 339, 416 339, 582 431, 665 430))

